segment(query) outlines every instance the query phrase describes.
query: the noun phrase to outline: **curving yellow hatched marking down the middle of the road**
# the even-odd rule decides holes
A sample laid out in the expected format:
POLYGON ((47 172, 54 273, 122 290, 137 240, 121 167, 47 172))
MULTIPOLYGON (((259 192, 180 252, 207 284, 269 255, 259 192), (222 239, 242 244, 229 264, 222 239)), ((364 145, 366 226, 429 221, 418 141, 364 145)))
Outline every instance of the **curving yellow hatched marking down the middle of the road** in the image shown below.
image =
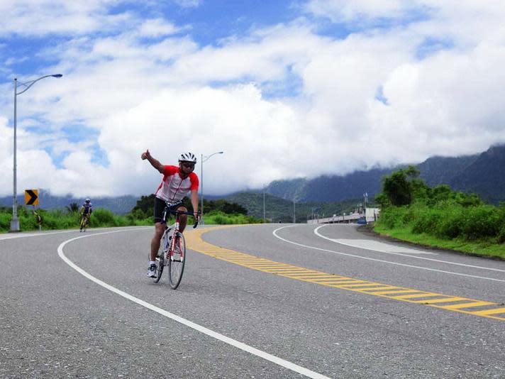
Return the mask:
POLYGON ((466 297, 443 295, 435 292, 423 292, 411 288, 396 287, 377 282, 368 282, 367 280, 360 280, 356 278, 346 278, 340 275, 310 270, 308 268, 301 268, 287 263, 275 262, 274 260, 240 253, 227 248, 221 248, 220 246, 205 242, 201 238, 202 234, 209 231, 227 229, 234 226, 236 227, 240 225, 213 226, 205 229, 187 231, 184 234, 184 236, 186 236, 187 246, 192 251, 196 251, 213 258, 224 260, 252 270, 261 271, 263 273, 283 276, 284 278, 311 282, 317 285, 338 288, 340 290, 360 292, 365 295, 386 297, 388 299, 399 300, 401 302, 423 304, 428 307, 445 309, 452 312, 472 314, 478 317, 487 317, 489 319, 505 321, 504 304, 468 299, 466 297), (444 305, 444 303, 450 304, 444 305), (473 311, 467 310, 470 308, 478 309, 473 311))

